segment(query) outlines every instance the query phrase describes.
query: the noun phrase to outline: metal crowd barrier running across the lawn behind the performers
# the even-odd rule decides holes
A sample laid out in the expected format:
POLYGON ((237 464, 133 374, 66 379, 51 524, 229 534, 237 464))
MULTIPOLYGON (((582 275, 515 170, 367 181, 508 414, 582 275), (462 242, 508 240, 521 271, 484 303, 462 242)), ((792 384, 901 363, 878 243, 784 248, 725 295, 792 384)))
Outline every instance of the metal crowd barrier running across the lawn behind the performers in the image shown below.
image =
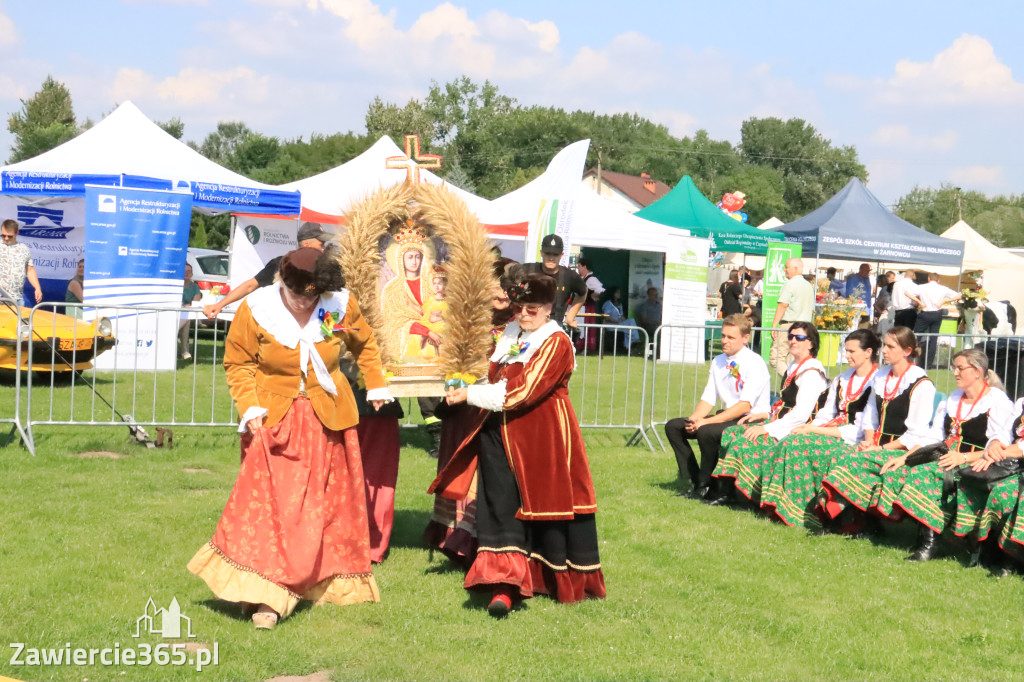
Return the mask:
MULTIPOLYGON (((68 304, 70 310, 83 307, 68 304)), ((18 365, 26 356, 30 365, 59 366, 70 351, 61 351, 54 322, 46 322, 41 310, 52 304, 40 304, 18 322, 18 334, 36 343, 17 346, 18 365)), ((195 308, 110 306, 114 336, 119 330, 133 329, 147 315, 191 313, 195 308)), ((770 329, 758 329, 752 338, 757 347, 770 343, 770 329)), ((160 370, 156 361, 140 365, 138 354, 115 355, 101 368, 73 372, 28 372, 14 375, 14 399, 4 402, 0 422, 12 424, 30 452, 35 451, 33 429, 42 425, 127 425, 135 426, 222 426, 237 427, 237 414, 224 380, 223 323, 205 319, 190 323, 188 347, 193 358, 178 359, 173 371, 160 370)), ((843 340, 848 332, 819 332, 821 349, 818 358, 829 377, 843 372, 843 340)), ((624 325, 581 324, 574 343, 577 370, 569 382, 569 395, 580 425, 586 429, 630 430, 628 444, 644 443, 664 450, 664 425, 669 420, 689 415, 700 398, 708 380, 712 358, 721 352, 721 325, 665 325, 653 337, 639 327, 624 325), (653 439, 650 437, 653 433, 653 439)), ((127 337, 126 337, 127 338, 127 337)), ((950 358, 966 347, 982 347, 990 364, 1002 378, 1007 392, 1014 398, 1024 395, 1024 339, 985 335, 920 335, 923 345, 934 344, 935 368, 929 375, 940 392, 955 388, 950 358)), ((75 332, 65 346, 79 347, 75 332)), ((93 339, 93 346, 96 340, 93 339)), ((174 334, 158 335, 150 353, 156 357, 164 344, 171 344, 174 334)), ((106 351, 114 353, 114 351, 106 351)), ((772 390, 777 393, 781 378, 771 372, 772 390)), ((404 426, 419 425, 419 409, 413 399, 403 399, 404 426)), ((134 433, 134 431, 133 431, 134 433)))

